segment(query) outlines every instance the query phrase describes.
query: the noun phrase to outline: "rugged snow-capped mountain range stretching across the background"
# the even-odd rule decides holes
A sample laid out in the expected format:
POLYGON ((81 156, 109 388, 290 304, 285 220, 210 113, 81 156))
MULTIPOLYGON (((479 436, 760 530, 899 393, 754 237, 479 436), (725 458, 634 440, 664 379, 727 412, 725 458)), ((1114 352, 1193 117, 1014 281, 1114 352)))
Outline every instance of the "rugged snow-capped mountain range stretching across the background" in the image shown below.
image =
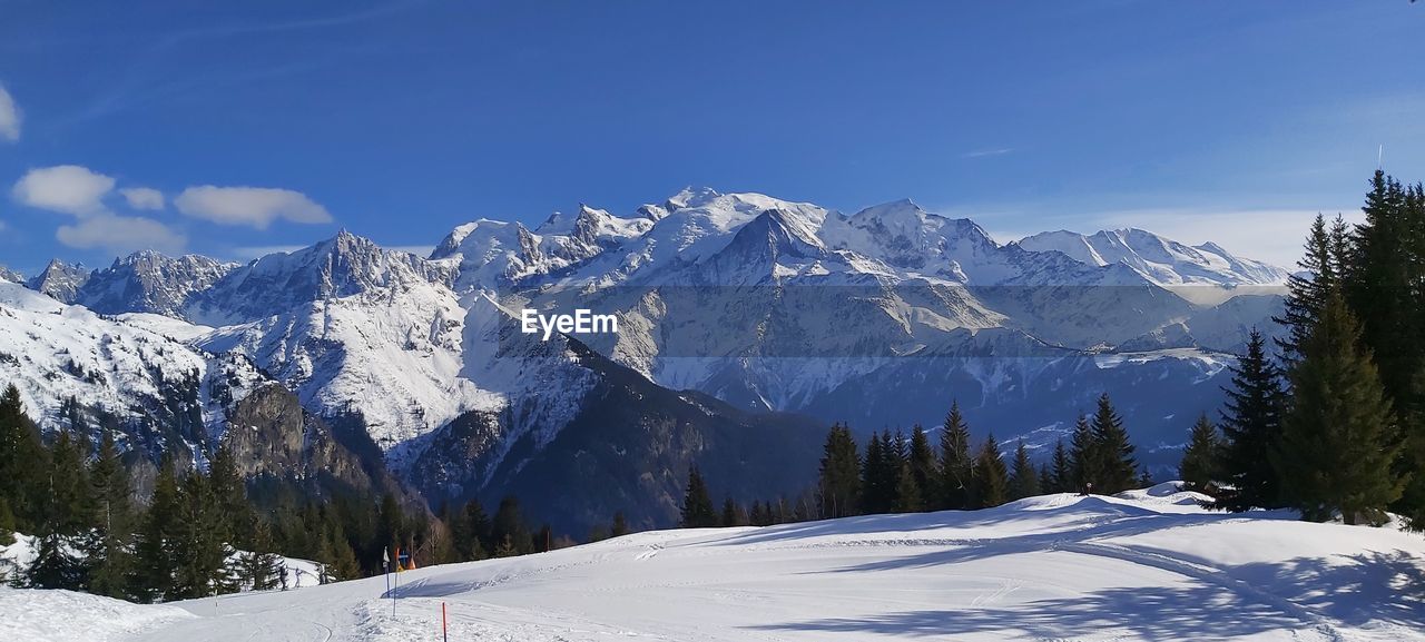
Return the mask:
POLYGON ((829 423, 933 427, 952 400, 1045 453, 1107 391, 1166 471, 1287 276, 1140 229, 1002 243, 911 201, 685 189, 627 216, 463 223, 430 256, 342 231, 245 265, 0 270, 0 380, 51 426, 73 397, 150 458, 227 440, 254 474, 653 527, 690 464, 741 500, 791 494, 829 423), (580 307, 618 332, 519 332, 523 309, 580 307))

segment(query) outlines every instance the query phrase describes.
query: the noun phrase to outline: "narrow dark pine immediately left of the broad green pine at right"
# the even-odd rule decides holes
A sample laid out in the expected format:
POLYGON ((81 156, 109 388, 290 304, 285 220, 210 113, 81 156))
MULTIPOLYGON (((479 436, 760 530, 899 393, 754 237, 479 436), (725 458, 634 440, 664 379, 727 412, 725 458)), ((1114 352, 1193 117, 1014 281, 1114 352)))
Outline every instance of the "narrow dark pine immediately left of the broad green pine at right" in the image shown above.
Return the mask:
POLYGON ((1231 387, 1223 410, 1221 477, 1226 484, 1214 508, 1245 511, 1281 507, 1281 488, 1270 453, 1281 437, 1285 406, 1281 373, 1267 357, 1261 333, 1253 329, 1247 354, 1231 366, 1231 387))

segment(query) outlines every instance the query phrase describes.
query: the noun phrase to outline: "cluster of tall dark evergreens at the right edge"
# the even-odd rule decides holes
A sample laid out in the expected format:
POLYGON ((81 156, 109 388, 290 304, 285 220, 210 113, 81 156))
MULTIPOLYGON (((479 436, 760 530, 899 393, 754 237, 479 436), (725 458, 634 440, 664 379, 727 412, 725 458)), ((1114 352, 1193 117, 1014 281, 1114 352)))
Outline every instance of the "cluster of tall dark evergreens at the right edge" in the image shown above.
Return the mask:
POLYGON ((1282 337, 1251 333, 1220 421, 1193 428, 1181 474, 1216 508, 1425 528, 1425 189, 1377 171, 1362 209, 1317 216, 1282 337))

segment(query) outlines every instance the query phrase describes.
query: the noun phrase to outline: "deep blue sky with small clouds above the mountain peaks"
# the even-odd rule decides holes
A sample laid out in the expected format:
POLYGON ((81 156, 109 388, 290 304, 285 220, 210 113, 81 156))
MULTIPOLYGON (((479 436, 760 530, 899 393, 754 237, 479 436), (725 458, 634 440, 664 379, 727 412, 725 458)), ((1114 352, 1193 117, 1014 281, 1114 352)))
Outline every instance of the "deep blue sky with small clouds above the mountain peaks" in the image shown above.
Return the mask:
POLYGON ((0 265, 428 252, 687 185, 1288 265, 1382 158, 1425 179, 1422 33, 1406 0, 0 0, 0 265))

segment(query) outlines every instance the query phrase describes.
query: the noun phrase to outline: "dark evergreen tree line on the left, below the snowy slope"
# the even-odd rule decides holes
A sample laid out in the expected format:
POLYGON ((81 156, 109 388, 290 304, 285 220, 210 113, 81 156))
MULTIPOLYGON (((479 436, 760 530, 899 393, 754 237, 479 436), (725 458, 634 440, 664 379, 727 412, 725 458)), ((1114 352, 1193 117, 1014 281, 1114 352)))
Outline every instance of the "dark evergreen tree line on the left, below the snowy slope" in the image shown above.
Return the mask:
POLYGON ((145 504, 114 431, 100 428, 94 446, 80 404, 61 409, 66 426, 47 443, 19 389, 0 394, 0 545, 16 532, 34 537, 31 564, 0 568, 16 586, 174 601, 369 577, 395 568, 396 548, 430 564, 539 552, 554 541, 549 527, 524 525, 514 497, 493 521, 479 502, 437 520, 389 493, 244 480, 227 447, 195 470, 164 454, 145 504), (296 577, 282 555, 316 561, 318 577, 296 577))

